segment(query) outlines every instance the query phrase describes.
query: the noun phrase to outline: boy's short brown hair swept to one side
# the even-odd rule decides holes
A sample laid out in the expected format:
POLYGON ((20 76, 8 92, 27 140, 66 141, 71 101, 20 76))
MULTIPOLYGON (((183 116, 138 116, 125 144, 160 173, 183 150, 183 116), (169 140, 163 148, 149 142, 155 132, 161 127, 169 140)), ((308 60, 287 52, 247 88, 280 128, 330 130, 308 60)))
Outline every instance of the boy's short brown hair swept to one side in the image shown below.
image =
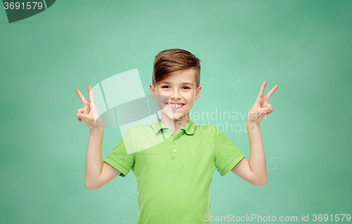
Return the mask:
POLYGON ((201 60, 189 51, 180 48, 173 48, 159 52, 154 60, 153 67, 153 86, 159 81, 169 77, 172 72, 179 70, 194 69, 196 74, 196 88, 201 82, 201 60))

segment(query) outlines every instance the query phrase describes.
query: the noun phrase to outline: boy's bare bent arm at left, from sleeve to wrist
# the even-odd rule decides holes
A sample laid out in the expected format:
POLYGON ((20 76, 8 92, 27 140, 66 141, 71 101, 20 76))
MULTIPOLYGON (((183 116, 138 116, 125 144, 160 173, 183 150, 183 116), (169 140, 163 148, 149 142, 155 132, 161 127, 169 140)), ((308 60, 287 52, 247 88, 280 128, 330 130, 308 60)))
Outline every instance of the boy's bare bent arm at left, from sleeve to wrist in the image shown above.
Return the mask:
POLYGON ((88 190, 96 190, 120 175, 120 171, 106 162, 101 162, 103 128, 92 129, 89 133, 84 184, 88 190))

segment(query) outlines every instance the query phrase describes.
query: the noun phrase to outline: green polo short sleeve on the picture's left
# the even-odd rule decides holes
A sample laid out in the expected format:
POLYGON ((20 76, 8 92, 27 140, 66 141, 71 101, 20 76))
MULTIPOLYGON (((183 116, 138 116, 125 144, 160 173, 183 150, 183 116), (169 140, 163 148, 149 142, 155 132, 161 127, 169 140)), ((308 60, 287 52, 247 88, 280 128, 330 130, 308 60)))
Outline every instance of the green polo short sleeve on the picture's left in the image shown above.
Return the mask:
POLYGON ((113 148, 113 151, 103 160, 103 162, 110 164, 115 169, 120 171, 120 176, 122 177, 127 176, 127 173, 130 172, 134 165, 134 155, 127 154, 128 150, 126 150, 126 145, 130 144, 128 143, 130 140, 129 136, 130 129, 127 131, 125 136, 120 139, 118 145, 113 148))

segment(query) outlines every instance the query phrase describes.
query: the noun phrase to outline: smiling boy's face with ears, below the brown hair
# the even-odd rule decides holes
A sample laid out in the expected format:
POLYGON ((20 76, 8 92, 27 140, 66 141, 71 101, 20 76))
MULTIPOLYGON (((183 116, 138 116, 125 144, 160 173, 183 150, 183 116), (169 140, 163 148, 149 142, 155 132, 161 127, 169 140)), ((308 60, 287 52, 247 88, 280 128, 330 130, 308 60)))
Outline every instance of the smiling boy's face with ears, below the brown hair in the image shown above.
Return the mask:
POLYGON ((180 119, 187 114, 201 94, 201 85, 196 88, 194 69, 173 72, 170 77, 150 84, 151 95, 157 100, 161 112, 170 119, 180 119))

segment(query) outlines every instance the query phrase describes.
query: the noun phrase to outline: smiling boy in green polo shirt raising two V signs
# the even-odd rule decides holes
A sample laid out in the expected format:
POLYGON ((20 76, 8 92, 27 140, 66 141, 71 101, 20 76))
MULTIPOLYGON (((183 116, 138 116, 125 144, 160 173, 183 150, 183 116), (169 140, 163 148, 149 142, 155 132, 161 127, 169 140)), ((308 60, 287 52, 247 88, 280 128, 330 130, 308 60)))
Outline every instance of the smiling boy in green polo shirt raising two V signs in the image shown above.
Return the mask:
MULTIPOLYGON (((94 119, 92 87, 89 102, 77 89, 84 108, 77 110, 79 121, 90 129, 84 182, 96 190, 116 176, 126 176, 132 169, 137 180, 139 212, 137 223, 211 223, 210 184, 215 169, 221 176, 228 171, 247 182, 263 186, 267 181, 265 154, 259 123, 272 112, 267 101, 278 88, 263 97, 266 81, 249 111, 246 125, 249 135, 249 160, 215 126, 198 126, 189 119, 189 110, 201 94, 200 60, 189 51, 170 49, 156 55, 151 95, 161 109, 161 119, 150 125, 134 126, 121 138, 101 162, 103 128, 94 119), (160 143, 128 153, 124 141, 135 133, 137 139, 163 139, 160 143)), ((134 140, 138 145, 139 140, 134 140)), ((131 144, 133 145, 133 143, 131 144)))

